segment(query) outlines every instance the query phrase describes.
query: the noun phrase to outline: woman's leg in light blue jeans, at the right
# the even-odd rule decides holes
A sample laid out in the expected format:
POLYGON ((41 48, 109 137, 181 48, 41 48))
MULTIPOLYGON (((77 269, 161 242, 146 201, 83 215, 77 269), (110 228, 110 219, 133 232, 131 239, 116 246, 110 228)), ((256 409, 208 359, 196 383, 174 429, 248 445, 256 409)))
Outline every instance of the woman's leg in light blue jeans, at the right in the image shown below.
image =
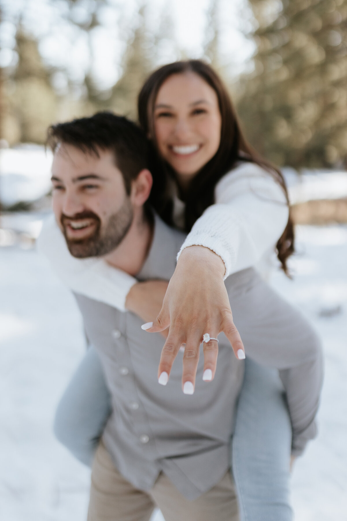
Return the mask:
POLYGON ((240 521, 291 521, 291 424, 278 370, 246 358, 232 440, 240 521))

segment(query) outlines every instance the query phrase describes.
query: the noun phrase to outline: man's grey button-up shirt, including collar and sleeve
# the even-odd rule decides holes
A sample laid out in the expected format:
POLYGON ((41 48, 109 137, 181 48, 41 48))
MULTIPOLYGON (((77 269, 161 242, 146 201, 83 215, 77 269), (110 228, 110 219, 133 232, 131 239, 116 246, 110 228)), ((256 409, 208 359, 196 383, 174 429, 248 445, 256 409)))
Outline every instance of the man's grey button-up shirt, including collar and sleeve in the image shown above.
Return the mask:
MULTIPOLYGON (((137 278, 170 279, 183 240, 183 233, 156 217, 152 245, 137 278)), ((225 286, 247 356, 279 369, 292 421, 292 450, 300 453, 315 436, 322 386, 322 352, 315 333, 254 269, 230 275, 225 286)), ((162 470, 188 499, 197 498, 229 467, 243 362, 221 333, 212 382, 202 381, 201 353, 195 393, 183 394, 183 355, 178 353, 168 384, 160 386, 163 337, 143 331, 142 320, 132 313, 82 295, 76 299, 111 394, 104 441, 119 472, 135 487, 149 490, 162 470)))

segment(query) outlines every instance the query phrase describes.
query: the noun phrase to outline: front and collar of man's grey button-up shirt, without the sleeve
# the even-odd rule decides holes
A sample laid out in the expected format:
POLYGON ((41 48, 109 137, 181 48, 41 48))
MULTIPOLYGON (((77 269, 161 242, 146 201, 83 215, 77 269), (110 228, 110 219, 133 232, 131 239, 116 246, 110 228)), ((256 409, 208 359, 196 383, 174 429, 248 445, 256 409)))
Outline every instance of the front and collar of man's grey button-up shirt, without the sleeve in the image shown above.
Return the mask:
MULTIPOLYGON (((156 217, 150 251, 137 278, 170 279, 184 238, 156 217)), ((143 331, 142 320, 132 313, 82 295, 76 299, 111 393, 112 414, 103 439, 115 466, 142 490, 150 490, 162 470, 185 497, 197 498, 229 467, 243 363, 236 360, 223 336, 212 382, 202 381, 201 356, 195 394, 183 394, 180 352, 168 384, 160 386, 157 371, 163 337, 143 331)))

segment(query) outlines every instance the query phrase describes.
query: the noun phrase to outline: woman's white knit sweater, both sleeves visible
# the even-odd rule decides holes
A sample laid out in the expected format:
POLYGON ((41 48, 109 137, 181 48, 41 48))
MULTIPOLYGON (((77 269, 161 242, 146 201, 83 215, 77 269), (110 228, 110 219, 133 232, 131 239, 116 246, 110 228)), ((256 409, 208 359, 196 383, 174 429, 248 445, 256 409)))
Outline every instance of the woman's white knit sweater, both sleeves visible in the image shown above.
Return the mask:
MULTIPOLYGON (((176 198, 177 225, 183 212, 184 203, 176 198)), ((186 247, 201 245, 222 258, 224 278, 250 266, 264 271, 287 221, 288 206, 279 184, 258 165, 240 163, 217 183, 215 204, 195 222, 177 258, 186 247)), ((136 279, 102 258, 70 255, 53 216, 43 226, 38 249, 73 291, 125 311, 126 295, 136 279)))

